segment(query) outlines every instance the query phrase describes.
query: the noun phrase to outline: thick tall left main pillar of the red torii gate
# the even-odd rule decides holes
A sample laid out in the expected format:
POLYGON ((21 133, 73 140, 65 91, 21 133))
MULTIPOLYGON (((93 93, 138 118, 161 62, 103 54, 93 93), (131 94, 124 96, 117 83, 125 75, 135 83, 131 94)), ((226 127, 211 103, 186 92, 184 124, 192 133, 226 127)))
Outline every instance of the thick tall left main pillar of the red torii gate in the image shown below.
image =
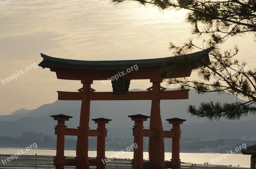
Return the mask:
POLYGON ((80 113, 80 124, 79 129, 82 129, 82 135, 77 137, 76 144, 76 158, 77 166, 76 169, 89 169, 89 158, 88 158, 88 137, 89 137, 89 121, 90 121, 90 99, 89 92, 91 91, 92 80, 82 80, 83 91, 82 91, 82 105, 80 113))

